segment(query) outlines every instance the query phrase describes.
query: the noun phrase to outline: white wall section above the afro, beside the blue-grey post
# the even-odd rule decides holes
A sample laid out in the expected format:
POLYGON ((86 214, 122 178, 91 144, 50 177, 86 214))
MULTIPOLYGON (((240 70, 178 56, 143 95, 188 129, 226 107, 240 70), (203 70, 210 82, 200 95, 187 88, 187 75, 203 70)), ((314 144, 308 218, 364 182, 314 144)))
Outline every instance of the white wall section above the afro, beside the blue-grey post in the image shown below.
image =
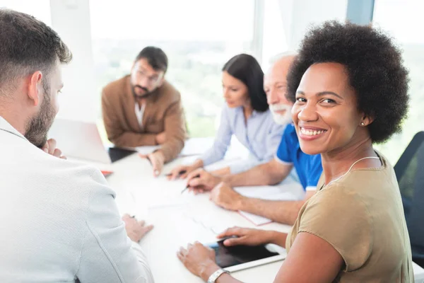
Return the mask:
POLYGON ((285 36, 290 50, 297 50, 311 25, 328 20, 344 21, 347 0, 279 0, 285 36))

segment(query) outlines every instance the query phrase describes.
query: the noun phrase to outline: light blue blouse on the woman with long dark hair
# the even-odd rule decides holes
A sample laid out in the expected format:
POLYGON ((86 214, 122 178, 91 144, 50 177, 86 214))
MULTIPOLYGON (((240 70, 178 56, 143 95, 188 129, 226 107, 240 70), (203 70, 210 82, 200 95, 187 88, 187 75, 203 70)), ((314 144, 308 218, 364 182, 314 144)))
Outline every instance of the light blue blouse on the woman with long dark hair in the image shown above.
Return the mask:
POLYGON ((201 156, 204 166, 224 158, 232 134, 249 150, 249 158, 230 166, 232 174, 247 171, 250 168, 270 161, 276 154, 285 125, 274 122, 271 110, 257 112, 245 122, 243 108, 229 108, 225 105, 220 126, 211 149, 201 156))

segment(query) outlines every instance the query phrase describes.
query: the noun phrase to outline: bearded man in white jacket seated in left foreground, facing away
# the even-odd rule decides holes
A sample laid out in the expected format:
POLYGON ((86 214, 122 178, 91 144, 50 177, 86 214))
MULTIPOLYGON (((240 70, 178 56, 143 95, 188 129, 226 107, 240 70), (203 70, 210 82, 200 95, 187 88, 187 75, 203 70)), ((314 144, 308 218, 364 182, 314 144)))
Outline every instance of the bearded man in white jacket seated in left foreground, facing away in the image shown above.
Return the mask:
POLYGON ((71 52, 25 13, 0 9, 0 26, 0 282, 153 282, 136 243, 152 226, 47 141, 71 52))

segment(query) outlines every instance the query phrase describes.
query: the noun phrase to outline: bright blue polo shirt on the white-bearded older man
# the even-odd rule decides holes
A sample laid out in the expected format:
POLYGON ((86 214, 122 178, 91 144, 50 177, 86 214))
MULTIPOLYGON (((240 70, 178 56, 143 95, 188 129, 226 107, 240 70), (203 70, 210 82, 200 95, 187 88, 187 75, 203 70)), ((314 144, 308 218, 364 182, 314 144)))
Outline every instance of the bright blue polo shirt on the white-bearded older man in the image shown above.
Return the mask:
POLYGON ((300 149, 298 134, 293 124, 287 125, 283 132, 276 154, 277 161, 292 163, 298 173, 304 190, 317 187, 322 174, 321 154, 308 155, 300 149))

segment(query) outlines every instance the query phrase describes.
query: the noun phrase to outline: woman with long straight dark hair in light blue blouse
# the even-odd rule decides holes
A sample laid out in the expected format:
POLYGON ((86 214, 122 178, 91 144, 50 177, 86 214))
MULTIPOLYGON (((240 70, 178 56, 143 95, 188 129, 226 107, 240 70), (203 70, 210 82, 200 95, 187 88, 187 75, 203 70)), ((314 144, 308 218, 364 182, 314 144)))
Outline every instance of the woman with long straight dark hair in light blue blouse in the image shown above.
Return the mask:
POLYGON ((264 72, 257 60, 248 54, 232 57, 223 67, 222 79, 226 105, 212 148, 192 165, 174 168, 171 179, 185 178, 196 168, 223 159, 233 134, 249 150, 249 158, 214 171, 215 174, 247 171, 270 161, 276 153, 283 126, 273 121, 264 92, 264 72))

